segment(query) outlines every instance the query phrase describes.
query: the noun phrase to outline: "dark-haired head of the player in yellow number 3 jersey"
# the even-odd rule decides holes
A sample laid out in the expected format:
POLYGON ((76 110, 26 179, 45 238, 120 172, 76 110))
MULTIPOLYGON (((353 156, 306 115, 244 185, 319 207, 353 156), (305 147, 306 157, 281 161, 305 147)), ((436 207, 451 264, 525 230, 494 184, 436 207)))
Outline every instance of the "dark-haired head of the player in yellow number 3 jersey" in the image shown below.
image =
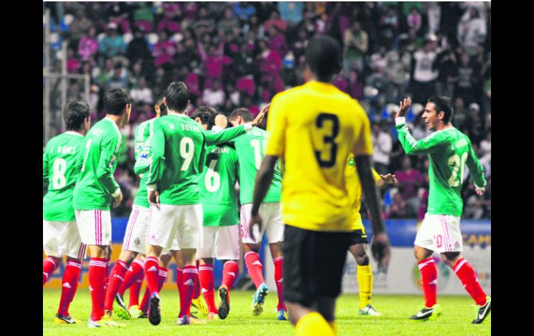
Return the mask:
POLYGON ((333 37, 327 35, 313 37, 304 55, 311 72, 321 82, 331 82, 341 71, 341 46, 333 37))

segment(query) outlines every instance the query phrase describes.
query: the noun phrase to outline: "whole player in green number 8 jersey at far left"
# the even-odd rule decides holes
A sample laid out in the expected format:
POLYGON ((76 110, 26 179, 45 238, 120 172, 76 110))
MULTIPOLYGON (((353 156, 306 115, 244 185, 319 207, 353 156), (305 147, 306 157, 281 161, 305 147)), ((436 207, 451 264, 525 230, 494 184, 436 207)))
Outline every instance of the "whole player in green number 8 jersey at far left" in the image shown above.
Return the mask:
POLYGON ((48 191, 43 197, 43 285, 67 255, 61 299, 55 324, 74 324, 69 305, 78 288, 78 277, 85 257, 76 216, 72 208, 72 193, 78 178, 75 169, 76 156, 83 151, 85 134, 89 130, 89 105, 83 100, 71 101, 64 110, 67 132, 54 136, 43 153, 43 183, 48 191))

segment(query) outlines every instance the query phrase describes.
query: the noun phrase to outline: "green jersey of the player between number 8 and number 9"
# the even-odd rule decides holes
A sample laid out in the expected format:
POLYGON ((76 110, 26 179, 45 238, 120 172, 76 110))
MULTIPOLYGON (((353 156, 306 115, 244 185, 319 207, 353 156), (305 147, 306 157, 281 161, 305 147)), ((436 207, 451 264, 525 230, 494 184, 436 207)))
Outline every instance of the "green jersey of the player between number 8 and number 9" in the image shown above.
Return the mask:
POLYGON ((117 168, 122 136, 110 118, 103 118, 87 132, 85 145, 78 155, 80 169, 74 188, 74 209, 110 210, 119 184, 113 174, 117 168))

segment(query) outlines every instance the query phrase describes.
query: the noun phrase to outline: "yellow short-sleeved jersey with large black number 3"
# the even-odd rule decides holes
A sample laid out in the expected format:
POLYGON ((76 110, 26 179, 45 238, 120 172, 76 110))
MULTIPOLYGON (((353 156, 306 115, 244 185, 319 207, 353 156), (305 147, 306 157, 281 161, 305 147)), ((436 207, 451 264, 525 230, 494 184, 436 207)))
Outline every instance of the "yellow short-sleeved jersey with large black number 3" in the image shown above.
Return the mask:
POLYGON ((352 229, 345 167, 372 155, 367 114, 334 85, 311 81, 277 94, 267 122, 267 155, 282 157, 282 219, 312 231, 352 229))

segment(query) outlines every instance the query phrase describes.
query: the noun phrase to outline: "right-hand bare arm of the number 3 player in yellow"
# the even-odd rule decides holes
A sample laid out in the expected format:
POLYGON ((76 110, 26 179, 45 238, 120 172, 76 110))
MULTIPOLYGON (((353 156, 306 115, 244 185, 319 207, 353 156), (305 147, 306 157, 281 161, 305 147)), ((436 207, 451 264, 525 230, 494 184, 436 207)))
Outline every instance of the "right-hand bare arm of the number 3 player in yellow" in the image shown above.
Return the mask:
POLYGON ((365 203, 371 215, 372 256, 375 260, 378 260, 379 269, 382 268, 386 271, 391 258, 391 250, 380 211, 380 197, 377 193, 377 186, 372 178, 371 158, 369 155, 358 155, 354 159, 356 161, 356 170, 360 177, 363 195, 365 195, 365 203))

